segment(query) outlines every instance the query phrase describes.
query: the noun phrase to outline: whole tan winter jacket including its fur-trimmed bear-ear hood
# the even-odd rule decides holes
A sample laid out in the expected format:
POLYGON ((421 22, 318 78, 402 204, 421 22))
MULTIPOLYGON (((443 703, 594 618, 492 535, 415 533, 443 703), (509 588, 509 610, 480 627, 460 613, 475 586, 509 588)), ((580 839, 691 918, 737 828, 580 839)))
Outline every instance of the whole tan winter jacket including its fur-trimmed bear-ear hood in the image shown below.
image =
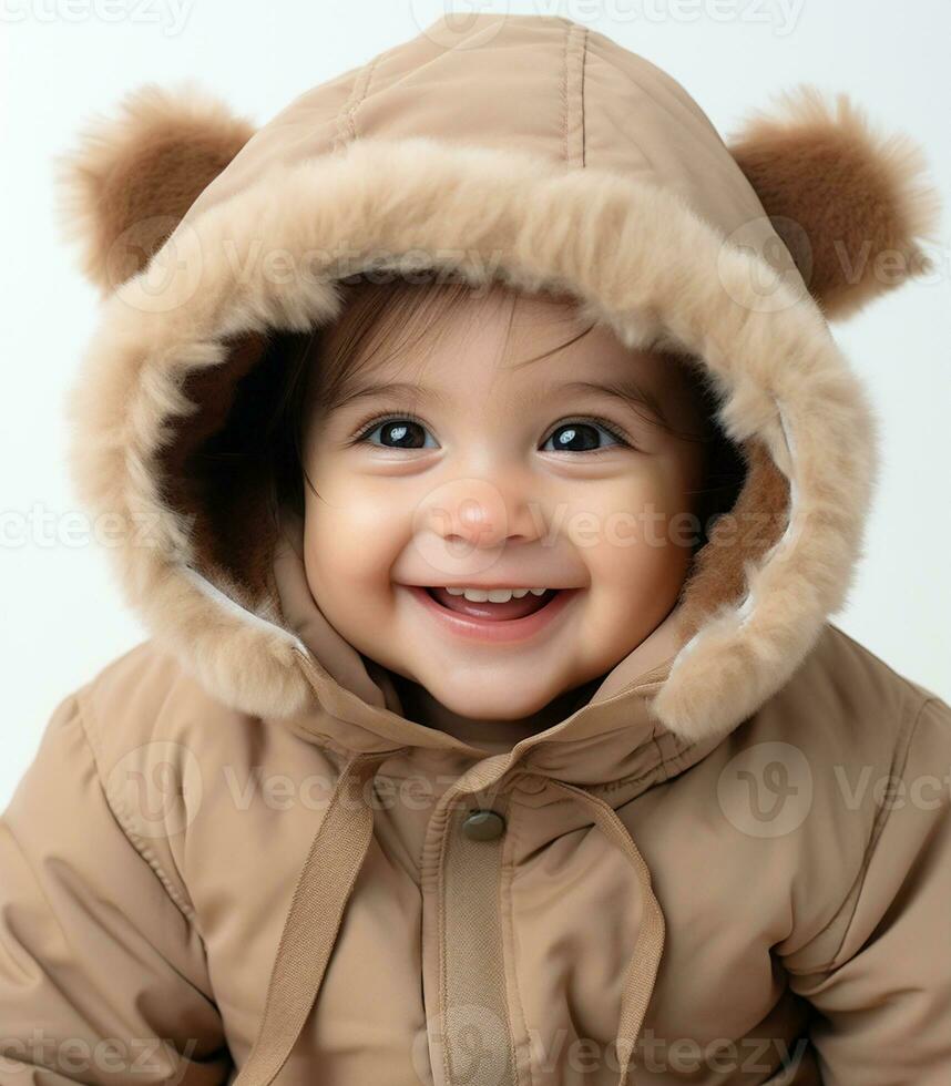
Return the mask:
POLYGON ((155 88, 90 130, 72 463, 151 637, 0 823, 2 1086, 951 1083, 951 709, 829 622, 877 450, 828 319, 927 267, 933 199, 847 100, 786 106, 727 144, 603 34, 481 13, 257 131, 155 88), (201 455, 269 330, 396 266, 697 356, 746 458, 671 615, 514 744, 405 717, 201 455))

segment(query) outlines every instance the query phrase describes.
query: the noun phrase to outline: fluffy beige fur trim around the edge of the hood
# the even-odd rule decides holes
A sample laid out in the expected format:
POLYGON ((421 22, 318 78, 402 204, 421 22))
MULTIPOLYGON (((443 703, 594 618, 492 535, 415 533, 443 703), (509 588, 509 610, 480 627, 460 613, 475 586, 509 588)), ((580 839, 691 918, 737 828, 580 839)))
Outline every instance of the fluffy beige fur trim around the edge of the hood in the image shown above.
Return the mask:
POLYGON ((125 525, 111 550, 129 601, 231 705, 303 710, 313 694, 294 656, 306 649, 196 568, 190 526, 163 502, 157 453, 170 423, 195 410, 185 376, 226 363, 225 337, 333 319, 335 278, 359 267, 571 290, 628 346, 703 359, 730 438, 761 442, 786 478, 785 532, 748 564, 742 598, 684 645, 654 701, 672 731, 701 739, 755 711, 843 603, 876 465, 863 389, 808 296, 674 193, 517 150, 365 139, 276 164, 190 216, 153 264, 164 265, 162 289, 149 269, 132 278, 88 348, 70 397, 73 474, 93 510, 125 525), (272 252, 297 274, 274 275, 272 252))

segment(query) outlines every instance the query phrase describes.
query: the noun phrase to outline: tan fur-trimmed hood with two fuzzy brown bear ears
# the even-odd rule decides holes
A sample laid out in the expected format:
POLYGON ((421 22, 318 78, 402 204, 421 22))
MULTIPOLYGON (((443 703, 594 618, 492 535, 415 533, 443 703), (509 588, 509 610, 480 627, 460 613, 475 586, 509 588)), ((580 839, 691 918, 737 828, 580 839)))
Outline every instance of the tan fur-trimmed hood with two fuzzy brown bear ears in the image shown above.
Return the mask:
POLYGON ((104 294, 70 396, 75 485, 122 525, 129 603, 228 705, 290 718, 316 689, 396 740, 427 730, 321 615, 299 525, 263 526, 254 470, 212 485, 198 468, 275 383, 270 332, 334 320, 339 280, 364 269, 570 291, 625 345, 709 375, 745 482, 677 607, 592 701, 636 687, 673 736, 709 740, 845 603, 876 424, 828 320, 929 266, 935 209, 918 150, 846 99, 800 89, 727 144, 603 34, 483 13, 438 20, 257 129, 197 88, 144 88, 61 165, 104 294), (901 258, 888 280, 881 253, 901 258))

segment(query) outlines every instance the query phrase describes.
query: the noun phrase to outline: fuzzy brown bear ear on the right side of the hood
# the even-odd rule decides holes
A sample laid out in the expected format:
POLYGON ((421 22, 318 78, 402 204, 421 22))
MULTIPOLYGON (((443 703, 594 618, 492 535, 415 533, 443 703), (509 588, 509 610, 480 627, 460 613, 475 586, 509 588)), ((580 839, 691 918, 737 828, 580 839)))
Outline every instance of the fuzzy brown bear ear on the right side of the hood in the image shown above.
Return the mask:
POLYGON ((917 143, 804 83, 725 141, 827 319, 931 272, 941 202, 917 143))

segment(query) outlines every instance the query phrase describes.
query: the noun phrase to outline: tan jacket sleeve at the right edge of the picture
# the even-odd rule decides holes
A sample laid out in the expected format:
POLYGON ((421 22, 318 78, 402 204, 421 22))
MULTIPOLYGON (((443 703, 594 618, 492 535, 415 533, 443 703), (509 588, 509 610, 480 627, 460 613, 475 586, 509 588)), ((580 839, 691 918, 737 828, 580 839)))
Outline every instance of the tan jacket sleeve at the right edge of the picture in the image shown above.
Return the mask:
POLYGON ((919 703, 879 818, 845 938, 790 986, 826 1086, 951 1083, 951 708, 919 703))

